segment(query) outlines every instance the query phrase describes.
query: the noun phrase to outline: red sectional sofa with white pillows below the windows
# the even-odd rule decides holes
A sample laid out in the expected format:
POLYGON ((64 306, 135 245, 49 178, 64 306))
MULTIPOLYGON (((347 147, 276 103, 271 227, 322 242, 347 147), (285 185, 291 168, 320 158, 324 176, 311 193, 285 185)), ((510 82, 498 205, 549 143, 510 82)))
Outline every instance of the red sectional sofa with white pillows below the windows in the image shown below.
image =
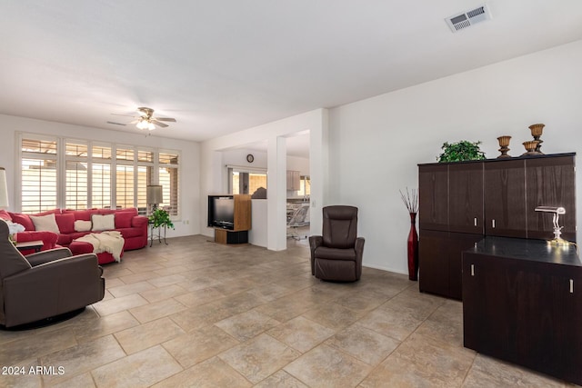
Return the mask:
MULTIPOLYGON (((140 249, 147 245, 147 217, 137 215, 137 209, 127 208, 119 210, 111 209, 89 209, 89 210, 61 210, 55 209, 42 214, 32 215, 46 215, 55 214, 55 221, 59 229, 59 234, 53 232, 36 231, 35 224, 30 218, 29 214, 19 214, 4 212, 8 214, 10 220, 17 224, 22 224, 25 227, 25 232, 15 234, 17 242, 42 240, 43 247, 41 251, 53 249, 58 246, 68 247, 73 240, 82 237, 85 234, 98 233, 94 231, 76 232, 75 221, 91 221, 93 214, 115 214, 115 231, 121 233, 124 237, 124 251, 131 251, 140 249)), ((3 216, 0 214, 0 216, 3 216)), ((3 218, 6 218, 3 216, 3 218)), ((23 252, 28 254, 28 252, 23 252)), ((99 264, 113 262, 111 254, 103 253, 97 254, 99 264)))

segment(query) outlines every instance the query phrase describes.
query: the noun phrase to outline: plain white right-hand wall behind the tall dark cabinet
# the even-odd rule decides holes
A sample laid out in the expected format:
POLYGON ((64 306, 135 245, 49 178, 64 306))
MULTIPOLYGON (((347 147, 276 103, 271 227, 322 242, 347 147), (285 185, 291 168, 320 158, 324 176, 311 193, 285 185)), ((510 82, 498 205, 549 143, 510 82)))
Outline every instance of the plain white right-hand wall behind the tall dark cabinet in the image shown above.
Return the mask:
MULTIPOLYGON (((497 136, 509 134, 518 156, 531 140, 527 126, 543 123, 544 153, 581 154, 580 69, 577 41, 331 109, 327 204, 359 207, 364 264, 407 273, 409 217, 398 190, 417 187, 416 164, 436 162, 444 142, 480 140, 495 158, 497 136)), ((577 198, 579 223, 579 189, 577 198)))

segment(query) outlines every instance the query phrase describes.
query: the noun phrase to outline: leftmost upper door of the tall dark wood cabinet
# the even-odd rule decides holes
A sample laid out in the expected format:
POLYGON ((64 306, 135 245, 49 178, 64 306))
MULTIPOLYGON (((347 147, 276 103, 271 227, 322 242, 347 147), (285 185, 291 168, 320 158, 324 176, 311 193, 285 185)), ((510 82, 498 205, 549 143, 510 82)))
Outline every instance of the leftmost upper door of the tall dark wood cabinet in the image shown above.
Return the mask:
POLYGON ((418 225, 420 229, 448 230, 448 166, 418 166, 418 225))

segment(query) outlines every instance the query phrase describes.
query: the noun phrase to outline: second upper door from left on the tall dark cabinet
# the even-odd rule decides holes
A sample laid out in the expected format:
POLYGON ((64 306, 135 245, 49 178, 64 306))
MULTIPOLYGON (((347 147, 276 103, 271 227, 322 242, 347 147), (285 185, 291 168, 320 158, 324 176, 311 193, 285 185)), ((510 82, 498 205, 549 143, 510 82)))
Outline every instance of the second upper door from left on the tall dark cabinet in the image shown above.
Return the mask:
POLYGON ((448 230, 483 234, 483 163, 449 164, 448 230))

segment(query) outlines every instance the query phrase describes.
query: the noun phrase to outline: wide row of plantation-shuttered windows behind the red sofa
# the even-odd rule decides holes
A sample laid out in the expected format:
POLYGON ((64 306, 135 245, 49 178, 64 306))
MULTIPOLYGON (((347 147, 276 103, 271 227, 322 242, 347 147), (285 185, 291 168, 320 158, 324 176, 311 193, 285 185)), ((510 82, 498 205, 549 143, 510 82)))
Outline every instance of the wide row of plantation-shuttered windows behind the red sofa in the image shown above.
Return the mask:
POLYGON ((161 184, 160 206, 178 215, 176 151, 38 134, 20 134, 20 142, 23 213, 135 207, 148 214, 146 187, 161 184))

